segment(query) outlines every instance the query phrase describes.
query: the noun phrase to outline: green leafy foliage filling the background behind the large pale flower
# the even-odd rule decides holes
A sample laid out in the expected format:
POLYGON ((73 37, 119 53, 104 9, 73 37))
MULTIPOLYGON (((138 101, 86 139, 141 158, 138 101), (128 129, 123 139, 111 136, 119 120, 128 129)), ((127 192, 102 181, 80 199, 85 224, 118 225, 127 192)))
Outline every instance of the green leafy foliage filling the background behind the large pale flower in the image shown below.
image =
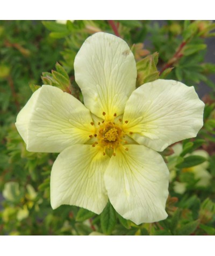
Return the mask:
POLYGON ((121 217, 111 203, 100 215, 77 206, 50 205, 51 169, 57 154, 30 153, 14 122, 17 113, 42 84, 56 86, 82 99, 74 77, 74 59, 83 41, 98 31, 113 33, 107 20, 0 21, 0 234, 161 236, 215 234, 215 64, 205 63, 206 38, 215 36, 208 20, 115 20, 137 61, 137 86, 156 79, 175 79, 198 90, 211 88, 204 98, 204 126, 194 139, 182 141, 182 151, 170 146, 162 156, 170 170, 168 218, 135 225, 121 217), (143 42, 149 41, 149 46, 143 42), (41 75, 42 74, 42 75, 41 75), (204 150, 208 157, 196 150, 204 150), (198 185, 195 168, 210 175, 198 185), (184 183, 185 191, 175 189, 184 183))

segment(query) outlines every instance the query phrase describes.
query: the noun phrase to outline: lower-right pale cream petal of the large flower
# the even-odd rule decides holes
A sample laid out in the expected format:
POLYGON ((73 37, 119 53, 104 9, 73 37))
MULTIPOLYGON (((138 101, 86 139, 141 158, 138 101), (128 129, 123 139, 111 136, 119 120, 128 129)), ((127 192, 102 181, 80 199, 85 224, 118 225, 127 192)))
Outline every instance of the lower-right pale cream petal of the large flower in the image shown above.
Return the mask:
POLYGON ((107 195, 114 209, 135 224, 166 219, 169 171, 159 153, 142 145, 116 150, 105 171, 107 195))

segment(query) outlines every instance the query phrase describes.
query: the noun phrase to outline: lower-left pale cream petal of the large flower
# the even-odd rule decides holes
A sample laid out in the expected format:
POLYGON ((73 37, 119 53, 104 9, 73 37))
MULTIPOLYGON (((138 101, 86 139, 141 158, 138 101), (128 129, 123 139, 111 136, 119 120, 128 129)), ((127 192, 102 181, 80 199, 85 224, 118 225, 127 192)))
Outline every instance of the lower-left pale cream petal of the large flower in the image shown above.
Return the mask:
POLYGON ((98 146, 76 144, 63 150, 51 172, 52 208, 69 204, 101 213, 108 200, 103 176, 109 160, 98 146))

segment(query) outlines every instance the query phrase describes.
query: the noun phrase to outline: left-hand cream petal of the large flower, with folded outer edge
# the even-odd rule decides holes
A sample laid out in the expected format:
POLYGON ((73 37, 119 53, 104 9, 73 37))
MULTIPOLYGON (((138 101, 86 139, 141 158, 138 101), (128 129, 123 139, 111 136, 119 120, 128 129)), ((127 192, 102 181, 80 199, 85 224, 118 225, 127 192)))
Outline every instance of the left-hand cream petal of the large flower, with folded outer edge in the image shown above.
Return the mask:
POLYGON ((95 133, 89 109, 61 89, 43 85, 19 112, 16 127, 33 152, 61 152, 95 133))

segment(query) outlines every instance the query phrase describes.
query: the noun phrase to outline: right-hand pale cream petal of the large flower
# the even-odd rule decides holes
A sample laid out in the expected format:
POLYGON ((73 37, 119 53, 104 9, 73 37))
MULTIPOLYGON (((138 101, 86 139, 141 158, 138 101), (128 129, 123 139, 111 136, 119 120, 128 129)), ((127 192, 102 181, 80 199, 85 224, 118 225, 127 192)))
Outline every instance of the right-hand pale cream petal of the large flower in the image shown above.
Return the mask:
POLYGON ((204 103, 194 87, 174 80, 156 80, 137 88, 125 106, 126 132, 140 144, 163 151, 170 144, 195 137, 203 126, 204 103))

